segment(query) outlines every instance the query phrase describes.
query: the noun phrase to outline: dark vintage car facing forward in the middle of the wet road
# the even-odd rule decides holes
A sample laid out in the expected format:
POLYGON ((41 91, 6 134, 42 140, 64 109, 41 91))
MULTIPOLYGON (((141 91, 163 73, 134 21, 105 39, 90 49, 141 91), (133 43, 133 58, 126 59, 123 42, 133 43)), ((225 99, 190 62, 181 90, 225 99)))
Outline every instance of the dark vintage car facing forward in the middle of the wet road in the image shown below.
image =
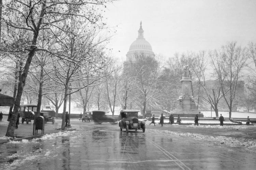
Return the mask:
POLYGON ((142 129, 142 131, 145 132, 145 121, 140 121, 138 119, 138 112, 140 111, 135 109, 125 109, 120 111, 120 131, 126 129, 126 133, 128 133, 128 130, 133 129, 137 131, 138 129, 142 129))

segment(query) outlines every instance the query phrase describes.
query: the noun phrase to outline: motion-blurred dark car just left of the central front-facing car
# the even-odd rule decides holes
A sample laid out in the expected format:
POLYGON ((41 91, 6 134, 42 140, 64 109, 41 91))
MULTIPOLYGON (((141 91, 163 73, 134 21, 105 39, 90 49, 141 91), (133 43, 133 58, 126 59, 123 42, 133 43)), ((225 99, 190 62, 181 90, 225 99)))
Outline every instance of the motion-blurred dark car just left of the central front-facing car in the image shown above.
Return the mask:
POLYGON ((115 123, 118 120, 116 118, 107 117, 105 111, 92 111, 93 121, 95 123, 112 122, 115 123))

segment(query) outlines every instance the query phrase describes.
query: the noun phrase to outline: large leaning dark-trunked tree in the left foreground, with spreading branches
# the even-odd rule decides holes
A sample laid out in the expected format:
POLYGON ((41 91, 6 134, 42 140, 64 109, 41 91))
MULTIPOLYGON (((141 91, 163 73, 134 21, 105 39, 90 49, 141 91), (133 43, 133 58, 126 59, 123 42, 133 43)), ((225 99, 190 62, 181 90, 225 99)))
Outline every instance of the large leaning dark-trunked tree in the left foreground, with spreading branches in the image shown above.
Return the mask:
POLYGON ((26 1, 21 2, 18 0, 9 0, 4 2, 2 22, 6 23, 9 27, 16 30, 25 30, 28 34, 30 41, 24 41, 26 48, 20 49, 28 52, 26 64, 24 65, 21 81, 18 84, 17 96, 14 104, 14 114, 10 120, 6 136, 14 137, 14 128, 18 114, 20 99, 22 96, 23 88, 25 86, 26 78, 28 75, 30 63, 37 51, 47 51, 62 60, 73 62, 67 55, 59 52, 48 51, 38 47, 38 38, 41 36, 41 30, 49 30, 53 35, 58 36, 56 31, 69 32, 65 27, 62 27, 63 20, 68 20, 70 16, 87 20, 91 23, 101 21, 102 16, 97 13, 93 5, 104 4, 105 1, 26 1), (14 17, 20 19, 20 22, 15 22, 14 17), (26 25, 24 26, 24 23, 26 25))

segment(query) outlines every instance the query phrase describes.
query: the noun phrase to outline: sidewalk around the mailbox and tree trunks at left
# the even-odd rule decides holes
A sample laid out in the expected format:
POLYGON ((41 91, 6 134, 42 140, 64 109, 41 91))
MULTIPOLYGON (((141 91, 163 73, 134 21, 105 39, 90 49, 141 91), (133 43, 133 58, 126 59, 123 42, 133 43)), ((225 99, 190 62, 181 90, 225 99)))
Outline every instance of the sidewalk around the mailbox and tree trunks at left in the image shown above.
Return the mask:
MULTIPOLYGON (((3 119, 0 122, 0 144, 9 142, 9 139, 5 137, 8 125, 9 125, 9 122, 7 121, 7 116, 3 116, 3 119)), ((61 129, 61 121, 55 121, 54 124, 52 124, 52 122, 47 122, 46 124, 44 124, 44 134, 42 134, 41 130, 38 130, 38 134, 33 135, 33 120, 29 122, 29 124, 26 124, 26 122, 22 124, 20 119, 18 129, 14 130, 15 139, 12 139, 12 140, 39 138, 46 134, 75 130, 72 128, 66 128, 65 130, 60 130, 60 129, 61 129)))

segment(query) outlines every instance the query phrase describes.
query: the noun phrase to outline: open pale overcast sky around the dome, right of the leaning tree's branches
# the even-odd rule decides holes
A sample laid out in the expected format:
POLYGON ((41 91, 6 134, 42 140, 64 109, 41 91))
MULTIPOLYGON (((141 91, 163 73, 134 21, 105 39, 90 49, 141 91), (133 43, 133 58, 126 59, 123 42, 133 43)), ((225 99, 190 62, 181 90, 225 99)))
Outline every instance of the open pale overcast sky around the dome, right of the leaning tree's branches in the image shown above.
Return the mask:
POLYGON ((120 0, 107 8, 108 24, 118 26, 112 54, 122 61, 140 21, 153 52, 165 58, 219 49, 229 41, 256 43, 256 0, 120 0))

